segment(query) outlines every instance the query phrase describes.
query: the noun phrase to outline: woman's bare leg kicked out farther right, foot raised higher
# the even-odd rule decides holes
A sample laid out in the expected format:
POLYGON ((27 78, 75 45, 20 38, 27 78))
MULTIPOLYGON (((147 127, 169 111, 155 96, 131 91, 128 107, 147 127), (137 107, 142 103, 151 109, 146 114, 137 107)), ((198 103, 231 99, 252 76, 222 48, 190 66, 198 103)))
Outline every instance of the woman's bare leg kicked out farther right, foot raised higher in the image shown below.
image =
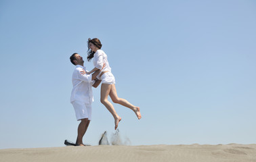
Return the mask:
POLYGON ((140 114, 140 107, 135 107, 134 105, 129 103, 126 99, 119 98, 117 96, 116 86, 114 84, 112 84, 111 86, 109 96, 112 99, 113 103, 119 103, 120 105, 130 108, 137 115, 138 119, 142 118, 142 115, 140 114))

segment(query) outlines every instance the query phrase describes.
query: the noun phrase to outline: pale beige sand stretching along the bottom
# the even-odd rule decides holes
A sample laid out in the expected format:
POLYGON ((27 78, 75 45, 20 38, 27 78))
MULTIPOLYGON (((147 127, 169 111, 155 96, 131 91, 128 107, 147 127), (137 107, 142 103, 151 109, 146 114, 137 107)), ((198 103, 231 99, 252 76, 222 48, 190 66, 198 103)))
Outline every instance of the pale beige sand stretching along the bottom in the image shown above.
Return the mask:
POLYGON ((0 161, 256 162, 256 144, 63 146, 56 148, 14 148, 1 149, 0 161))

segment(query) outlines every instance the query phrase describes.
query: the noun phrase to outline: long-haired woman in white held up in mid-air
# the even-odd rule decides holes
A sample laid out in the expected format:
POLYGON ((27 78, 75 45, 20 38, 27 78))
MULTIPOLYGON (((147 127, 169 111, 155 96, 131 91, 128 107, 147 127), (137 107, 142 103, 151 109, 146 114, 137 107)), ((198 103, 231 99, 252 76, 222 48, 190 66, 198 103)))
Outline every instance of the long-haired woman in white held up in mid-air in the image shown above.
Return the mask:
POLYGON ((135 107, 134 105, 129 103, 127 100, 121 99, 117 96, 116 87, 114 86, 115 84, 114 76, 111 73, 111 68, 108 64, 108 57, 106 53, 104 53, 104 51, 101 50, 102 43, 100 43, 100 40, 98 38, 93 38, 93 39, 89 38, 87 43, 88 43, 87 60, 90 61, 93 58, 93 65, 95 66, 95 68, 93 68, 93 70, 91 70, 87 74, 91 74, 99 69, 101 70, 103 68, 103 65, 105 65, 105 67, 102 69, 102 72, 100 72, 100 74, 97 76, 98 79, 102 80, 102 86, 100 90, 100 102, 113 115, 114 124, 115 124, 114 129, 116 130, 122 118, 116 113, 113 105, 108 101, 108 95, 112 99, 113 103, 119 103, 120 105, 128 107, 129 109, 135 112, 138 119, 142 118, 142 115, 140 114, 140 107, 135 107))

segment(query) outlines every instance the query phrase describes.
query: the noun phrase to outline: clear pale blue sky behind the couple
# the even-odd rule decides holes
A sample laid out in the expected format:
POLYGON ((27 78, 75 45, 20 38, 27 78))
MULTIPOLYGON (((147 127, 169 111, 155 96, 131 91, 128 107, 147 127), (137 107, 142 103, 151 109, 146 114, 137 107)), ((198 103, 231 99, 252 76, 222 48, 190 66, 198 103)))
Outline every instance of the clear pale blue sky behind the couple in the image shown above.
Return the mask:
MULTIPOLYGON (((0 148, 75 141, 74 65, 100 38, 132 145, 256 143, 256 1, 0 1, 0 148)), ((91 62, 85 61, 87 70, 91 62)), ((85 143, 114 119, 93 88, 85 143)))

